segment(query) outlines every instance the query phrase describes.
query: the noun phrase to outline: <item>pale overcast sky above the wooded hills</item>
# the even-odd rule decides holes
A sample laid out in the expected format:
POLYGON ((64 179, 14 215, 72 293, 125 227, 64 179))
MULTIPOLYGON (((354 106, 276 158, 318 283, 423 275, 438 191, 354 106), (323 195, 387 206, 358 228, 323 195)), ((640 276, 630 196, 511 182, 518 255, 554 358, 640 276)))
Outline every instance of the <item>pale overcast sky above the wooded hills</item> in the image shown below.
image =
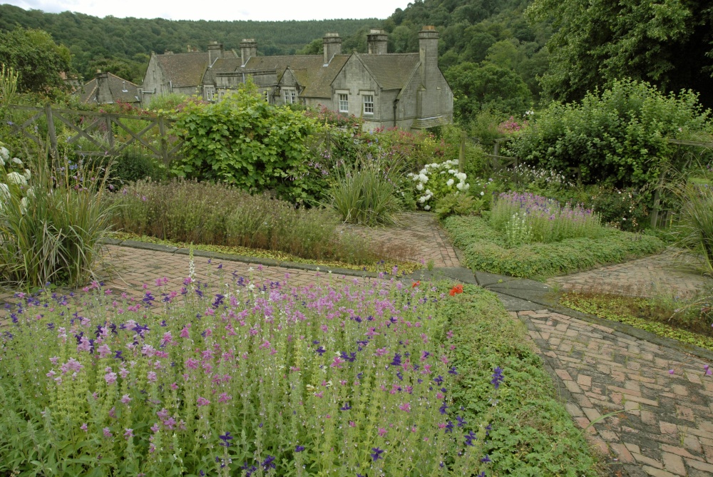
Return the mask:
POLYGON ((22 9, 48 13, 78 13, 119 18, 172 20, 324 20, 385 19, 409 0, 237 0, 237 1, 145 1, 145 0, 0 0, 22 9))

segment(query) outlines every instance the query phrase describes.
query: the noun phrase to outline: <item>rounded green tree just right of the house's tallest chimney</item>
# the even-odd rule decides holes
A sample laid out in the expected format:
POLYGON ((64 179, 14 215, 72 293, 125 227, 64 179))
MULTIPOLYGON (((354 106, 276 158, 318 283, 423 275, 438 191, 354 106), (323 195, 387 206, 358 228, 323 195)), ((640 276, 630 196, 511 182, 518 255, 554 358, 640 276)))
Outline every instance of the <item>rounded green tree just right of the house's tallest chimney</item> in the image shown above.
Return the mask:
POLYGON ((446 79, 456 92, 453 113, 461 120, 469 120, 486 109, 519 116, 530 106, 528 86, 509 68, 488 62, 461 63, 448 68, 446 79))

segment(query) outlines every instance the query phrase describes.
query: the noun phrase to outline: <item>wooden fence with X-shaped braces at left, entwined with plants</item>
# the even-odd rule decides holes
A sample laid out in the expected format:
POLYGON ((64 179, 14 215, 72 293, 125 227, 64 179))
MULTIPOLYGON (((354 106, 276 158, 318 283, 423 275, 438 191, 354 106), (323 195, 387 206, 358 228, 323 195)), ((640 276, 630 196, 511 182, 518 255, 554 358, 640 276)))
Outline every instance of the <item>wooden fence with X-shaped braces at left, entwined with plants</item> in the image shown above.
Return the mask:
POLYGON ((80 155, 119 155, 130 146, 138 146, 168 164, 183 145, 183 140, 168 133, 173 120, 163 116, 73 111, 52 108, 49 104, 43 108, 14 105, 9 108, 17 113, 34 113, 21 122, 13 123, 13 132, 24 135, 40 148, 48 148, 53 157, 58 156, 57 138, 61 128, 68 132, 66 145, 70 148, 78 146, 80 140, 89 143, 92 150, 73 150, 80 155), (46 131, 46 135, 40 130, 43 133, 46 131))

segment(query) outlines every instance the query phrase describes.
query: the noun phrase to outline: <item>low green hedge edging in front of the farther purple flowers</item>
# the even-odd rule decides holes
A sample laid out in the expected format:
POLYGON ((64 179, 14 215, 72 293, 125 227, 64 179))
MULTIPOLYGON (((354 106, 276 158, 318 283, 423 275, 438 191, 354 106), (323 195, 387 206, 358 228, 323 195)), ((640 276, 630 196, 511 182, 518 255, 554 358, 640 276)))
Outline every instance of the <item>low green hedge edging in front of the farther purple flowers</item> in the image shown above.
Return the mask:
POLYGON ((513 277, 566 275, 643 257, 665 247, 650 235, 607 229, 597 239, 576 238, 508 249, 501 232, 482 217, 448 217, 443 227, 453 245, 463 250, 467 267, 513 277))

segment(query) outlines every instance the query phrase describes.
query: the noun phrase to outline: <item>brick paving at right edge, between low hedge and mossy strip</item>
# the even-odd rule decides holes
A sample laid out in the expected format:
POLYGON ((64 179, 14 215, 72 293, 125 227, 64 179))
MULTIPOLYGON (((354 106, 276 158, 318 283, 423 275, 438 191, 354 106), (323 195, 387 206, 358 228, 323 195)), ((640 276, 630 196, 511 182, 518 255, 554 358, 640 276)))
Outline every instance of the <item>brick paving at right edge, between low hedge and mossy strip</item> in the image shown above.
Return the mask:
POLYGON ((548 284, 558 284, 565 292, 691 297, 703 287, 713 286, 713 280, 691 270, 690 260, 687 255, 677 256, 667 250, 639 260, 553 277, 548 284))

